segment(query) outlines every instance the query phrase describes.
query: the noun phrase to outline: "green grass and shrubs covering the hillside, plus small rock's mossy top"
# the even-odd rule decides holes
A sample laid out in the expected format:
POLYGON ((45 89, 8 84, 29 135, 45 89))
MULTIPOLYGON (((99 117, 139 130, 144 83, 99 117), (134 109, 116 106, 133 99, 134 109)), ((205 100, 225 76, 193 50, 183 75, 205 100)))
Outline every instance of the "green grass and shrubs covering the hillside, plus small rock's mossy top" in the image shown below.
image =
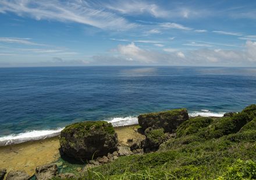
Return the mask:
MULTIPOLYGON (((256 179, 255 107, 232 117, 191 118, 158 152, 119 157, 81 179, 256 179)), ((164 135, 150 132, 152 139, 164 135)))

